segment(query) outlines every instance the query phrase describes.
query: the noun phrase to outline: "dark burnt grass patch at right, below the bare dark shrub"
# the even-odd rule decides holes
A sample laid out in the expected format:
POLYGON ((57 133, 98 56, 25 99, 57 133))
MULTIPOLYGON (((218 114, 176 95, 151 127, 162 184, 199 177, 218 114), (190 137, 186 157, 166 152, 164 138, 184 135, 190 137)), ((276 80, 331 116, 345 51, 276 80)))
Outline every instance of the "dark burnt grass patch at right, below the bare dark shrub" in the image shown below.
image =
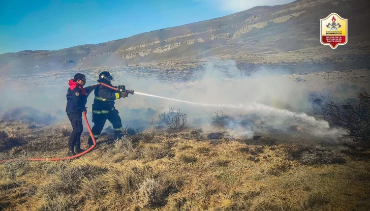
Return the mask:
POLYGON ((304 147, 298 150, 290 149, 288 150, 288 159, 298 160, 305 165, 344 164, 347 162, 343 153, 318 147, 304 147))

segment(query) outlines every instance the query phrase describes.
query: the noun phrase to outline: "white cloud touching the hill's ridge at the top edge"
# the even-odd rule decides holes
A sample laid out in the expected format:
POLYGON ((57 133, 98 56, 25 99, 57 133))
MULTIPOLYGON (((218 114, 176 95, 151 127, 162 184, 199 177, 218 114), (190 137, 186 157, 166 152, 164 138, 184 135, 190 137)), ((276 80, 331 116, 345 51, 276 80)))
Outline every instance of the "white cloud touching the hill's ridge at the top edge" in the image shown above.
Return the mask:
POLYGON ((240 12, 243 10, 248 10, 257 6, 274 6, 274 5, 284 5, 293 0, 200 0, 210 4, 217 9, 225 12, 240 12))

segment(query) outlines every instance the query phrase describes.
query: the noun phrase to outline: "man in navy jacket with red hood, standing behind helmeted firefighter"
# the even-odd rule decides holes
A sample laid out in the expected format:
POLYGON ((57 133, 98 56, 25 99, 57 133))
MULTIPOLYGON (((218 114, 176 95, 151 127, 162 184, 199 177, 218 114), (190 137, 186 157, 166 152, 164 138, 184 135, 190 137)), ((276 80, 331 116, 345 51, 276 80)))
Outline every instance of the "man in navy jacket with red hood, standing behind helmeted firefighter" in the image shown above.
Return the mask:
POLYGON ((70 87, 67 92, 67 116, 71 122, 73 131, 69 139, 68 157, 82 153, 80 146, 82 126, 82 112, 86 111, 87 95, 92 92, 97 85, 83 87, 86 78, 83 74, 77 73, 74 79, 69 80, 70 87))

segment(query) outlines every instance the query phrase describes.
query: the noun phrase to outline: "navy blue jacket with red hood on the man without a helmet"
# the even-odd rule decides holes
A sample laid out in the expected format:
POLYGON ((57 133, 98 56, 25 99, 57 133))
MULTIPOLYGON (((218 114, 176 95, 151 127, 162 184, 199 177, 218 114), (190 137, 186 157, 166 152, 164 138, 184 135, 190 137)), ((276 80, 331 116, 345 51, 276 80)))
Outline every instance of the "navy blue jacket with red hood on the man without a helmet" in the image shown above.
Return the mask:
POLYGON ((67 91, 67 106, 68 113, 81 113, 86 110, 87 93, 90 93, 93 87, 82 87, 79 83, 69 80, 70 87, 67 91))

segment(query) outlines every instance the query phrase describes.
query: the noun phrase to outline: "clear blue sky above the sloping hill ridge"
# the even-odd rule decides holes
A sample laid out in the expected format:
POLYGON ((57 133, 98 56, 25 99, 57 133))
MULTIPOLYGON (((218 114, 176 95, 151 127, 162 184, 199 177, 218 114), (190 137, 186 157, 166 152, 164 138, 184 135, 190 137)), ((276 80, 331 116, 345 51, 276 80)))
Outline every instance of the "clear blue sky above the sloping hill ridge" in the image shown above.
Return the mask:
POLYGON ((292 0, 0 0, 0 54, 97 44, 292 0))

